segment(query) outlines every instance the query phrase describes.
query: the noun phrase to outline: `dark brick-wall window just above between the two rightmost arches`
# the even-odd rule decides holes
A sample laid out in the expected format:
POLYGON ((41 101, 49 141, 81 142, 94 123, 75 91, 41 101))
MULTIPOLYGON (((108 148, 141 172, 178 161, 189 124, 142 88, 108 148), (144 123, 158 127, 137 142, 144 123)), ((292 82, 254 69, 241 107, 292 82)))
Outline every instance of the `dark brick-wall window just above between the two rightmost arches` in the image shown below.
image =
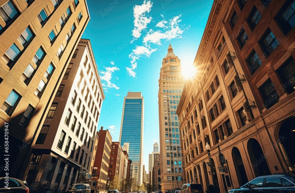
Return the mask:
POLYGON ((266 81, 261 87, 260 91, 264 100, 265 108, 268 109, 276 104, 279 100, 278 93, 271 80, 266 81))

